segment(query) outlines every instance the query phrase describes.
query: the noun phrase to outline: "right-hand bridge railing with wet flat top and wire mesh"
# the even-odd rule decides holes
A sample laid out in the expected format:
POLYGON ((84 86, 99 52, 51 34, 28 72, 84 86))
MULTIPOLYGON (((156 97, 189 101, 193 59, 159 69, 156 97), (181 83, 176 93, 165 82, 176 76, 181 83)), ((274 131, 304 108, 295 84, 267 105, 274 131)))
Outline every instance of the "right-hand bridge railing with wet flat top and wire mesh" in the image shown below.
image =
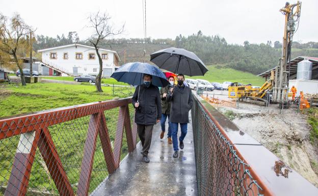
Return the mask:
POLYGON ((198 195, 318 195, 318 188, 201 97, 191 110, 198 195))

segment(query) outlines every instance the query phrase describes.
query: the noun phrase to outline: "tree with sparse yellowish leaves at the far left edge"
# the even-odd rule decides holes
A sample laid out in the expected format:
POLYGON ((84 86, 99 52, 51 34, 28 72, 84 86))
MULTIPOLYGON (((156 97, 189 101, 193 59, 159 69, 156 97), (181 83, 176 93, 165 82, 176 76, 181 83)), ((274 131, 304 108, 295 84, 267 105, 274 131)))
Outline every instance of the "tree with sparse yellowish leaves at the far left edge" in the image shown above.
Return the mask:
POLYGON ((9 24, 8 17, 0 13, 0 50, 13 57, 20 70, 22 86, 26 86, 26 83, 18 52, 27 44, 25 36, 29 34, 29 30, 30 27, 25 24, 19 14, 14 14, 9 24))

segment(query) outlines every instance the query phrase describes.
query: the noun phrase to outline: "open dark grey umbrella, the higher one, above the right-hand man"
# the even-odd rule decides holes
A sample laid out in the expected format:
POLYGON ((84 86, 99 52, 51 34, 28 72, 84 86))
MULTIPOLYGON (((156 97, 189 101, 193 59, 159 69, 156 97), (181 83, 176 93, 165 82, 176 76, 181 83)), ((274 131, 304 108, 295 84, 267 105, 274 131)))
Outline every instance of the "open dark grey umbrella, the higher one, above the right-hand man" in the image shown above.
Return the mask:
POLYGON ((166 48, 150 54, 150 61, 159 68, 184 75, 204 75, 208 70, 195 53, 182 48, 166 48))

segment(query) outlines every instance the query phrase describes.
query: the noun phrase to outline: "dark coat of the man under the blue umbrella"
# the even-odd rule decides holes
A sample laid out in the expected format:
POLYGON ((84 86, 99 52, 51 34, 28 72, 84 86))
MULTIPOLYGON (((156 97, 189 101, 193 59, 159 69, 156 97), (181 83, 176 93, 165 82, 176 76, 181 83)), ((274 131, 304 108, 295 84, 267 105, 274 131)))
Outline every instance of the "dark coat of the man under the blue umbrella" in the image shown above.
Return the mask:
POLYGON ((161 119, 161 99, 156 86, 152 84, 148 88, 145 85, 138 86, 133 96, 133 105, 136 108, 135 123, 154 125, 157 119, 161 119), (139 108, 136 108, 139 88, 139 108))

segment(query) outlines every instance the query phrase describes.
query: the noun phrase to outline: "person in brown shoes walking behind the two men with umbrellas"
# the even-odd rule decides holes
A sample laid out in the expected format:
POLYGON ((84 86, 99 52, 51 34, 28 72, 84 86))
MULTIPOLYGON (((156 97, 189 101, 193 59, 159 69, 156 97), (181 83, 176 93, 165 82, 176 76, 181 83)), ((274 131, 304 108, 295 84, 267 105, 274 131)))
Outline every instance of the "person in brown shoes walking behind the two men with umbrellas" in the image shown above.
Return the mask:
POLYGON ((160 97, 161 97, 161 107, 162 107, 162 116, 161 116, 161 133, 160 133, 160 138, 164 138, 165 132, 166 132, 166 120, 168 117, 168 144, 172 144, 172 139, 171 139, 171 123, 169 120, 170 117, 170 107, 171 107, 171 102, 167 100, 167 95, 169 93, 169 90, 171 87, 174 86, 174 77, 170 76, 168 78, 169 85, 166 87, 163 87, 160 89, 160 97))

